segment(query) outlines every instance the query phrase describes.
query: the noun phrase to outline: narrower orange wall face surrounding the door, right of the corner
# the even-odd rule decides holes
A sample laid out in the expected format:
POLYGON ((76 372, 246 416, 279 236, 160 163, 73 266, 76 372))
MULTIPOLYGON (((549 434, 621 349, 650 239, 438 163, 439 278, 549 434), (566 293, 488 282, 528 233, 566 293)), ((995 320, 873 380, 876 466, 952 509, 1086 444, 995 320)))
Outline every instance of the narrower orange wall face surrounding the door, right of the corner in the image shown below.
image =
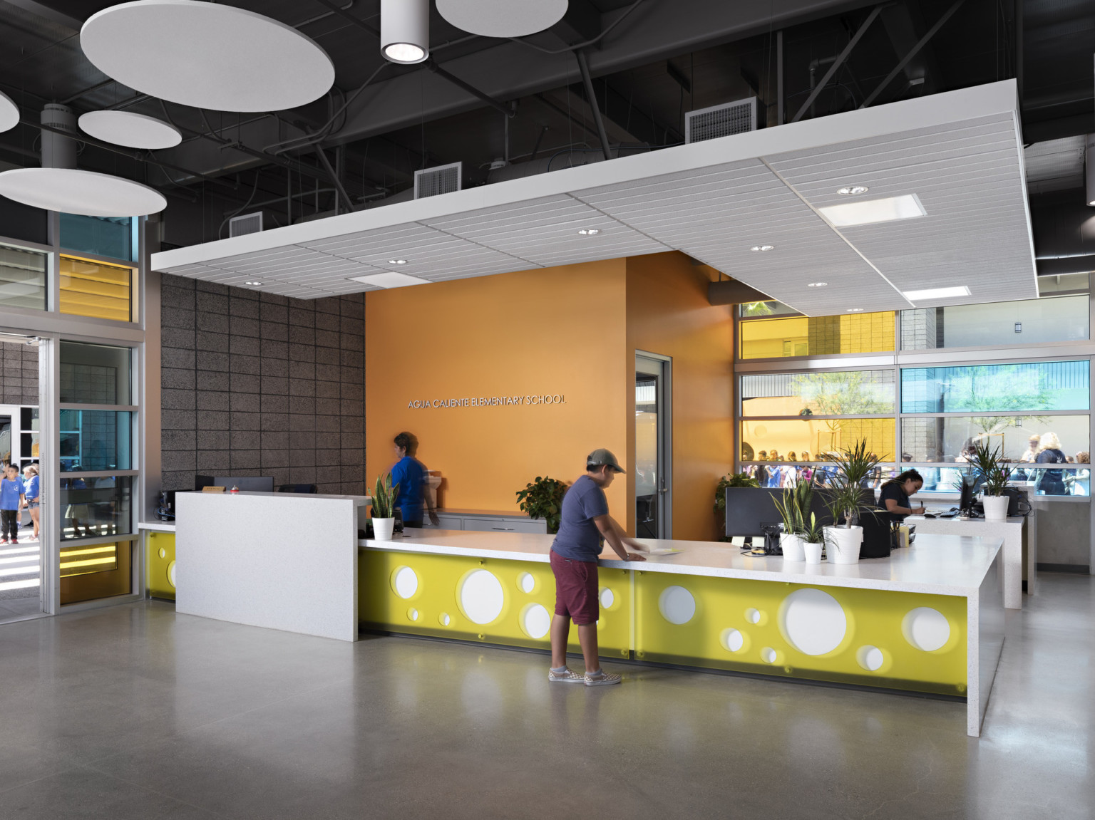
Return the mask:
MULTIPOLYGON (((627 259, 627 347, 672 359, 672 532, 682 540, 719 536, 715 485, 734 460, 734 331, 730 308, 707 301, 710 272, 679 253, 627 259)), ((634 370, 630 376, 634 419, 634 370)), ((627 464, 634 460, 632 424, 627 464)), ((635 477, 627 477, 630 498, 635 477)), ((629 513, 634 531, 634 509, 629 513)))

